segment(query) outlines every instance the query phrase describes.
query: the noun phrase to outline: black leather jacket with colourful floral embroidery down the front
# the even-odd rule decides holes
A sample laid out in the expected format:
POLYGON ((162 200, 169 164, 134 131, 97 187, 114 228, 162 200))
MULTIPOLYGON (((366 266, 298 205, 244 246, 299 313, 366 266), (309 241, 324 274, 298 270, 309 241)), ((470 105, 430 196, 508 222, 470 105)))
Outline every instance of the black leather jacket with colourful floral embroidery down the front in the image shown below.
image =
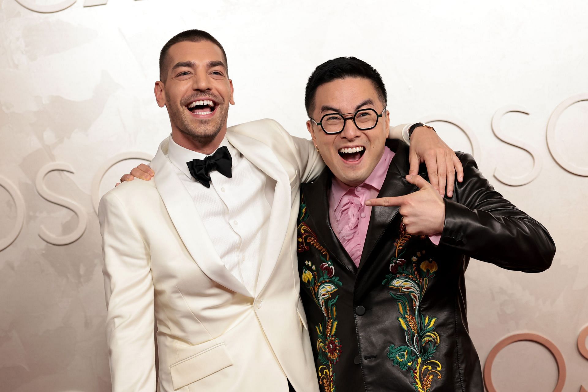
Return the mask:
MULTIPOLYGON (((379 197, 417 187, 399 141, 379 197)), ((547 230, 496 192, 472 156, 445 199, 439 246, 410 235, 397 207, 373 207, 359 267, 330 228, 328 169, 303 184, 298 226, 300 297, 322 391, 480 391, 482 371, 466 318, 470 257, 524 272, 549 268, 547 230)), ((424 174, 425 170, 420 170, 424 174)))

